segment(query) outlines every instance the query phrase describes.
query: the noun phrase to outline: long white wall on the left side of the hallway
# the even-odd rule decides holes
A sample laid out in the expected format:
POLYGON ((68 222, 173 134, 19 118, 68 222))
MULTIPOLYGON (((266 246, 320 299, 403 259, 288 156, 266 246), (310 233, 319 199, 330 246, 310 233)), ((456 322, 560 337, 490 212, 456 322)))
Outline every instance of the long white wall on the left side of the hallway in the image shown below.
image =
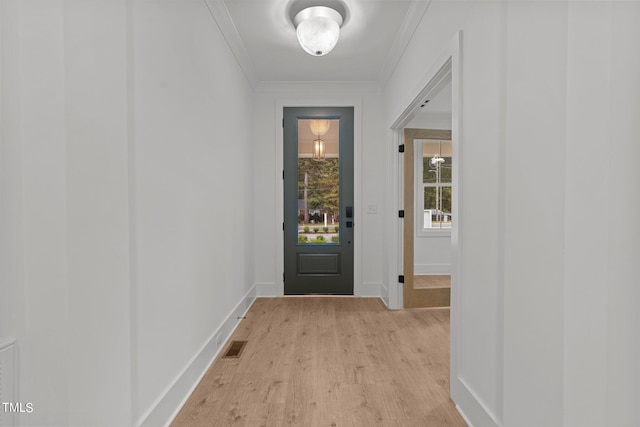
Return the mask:
POLYGON ((20 425, 161 425, 253 297, 252 90, 200 1, 0 4, 20 425))

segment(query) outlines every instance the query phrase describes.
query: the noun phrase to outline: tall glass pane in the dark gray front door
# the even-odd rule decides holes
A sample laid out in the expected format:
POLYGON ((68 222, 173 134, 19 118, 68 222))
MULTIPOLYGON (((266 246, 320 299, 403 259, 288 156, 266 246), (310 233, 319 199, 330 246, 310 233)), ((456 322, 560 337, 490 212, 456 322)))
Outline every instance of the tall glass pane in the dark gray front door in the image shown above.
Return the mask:
POLYGON ((340 243, 339 120, 298 120, 298 244, 340 243))

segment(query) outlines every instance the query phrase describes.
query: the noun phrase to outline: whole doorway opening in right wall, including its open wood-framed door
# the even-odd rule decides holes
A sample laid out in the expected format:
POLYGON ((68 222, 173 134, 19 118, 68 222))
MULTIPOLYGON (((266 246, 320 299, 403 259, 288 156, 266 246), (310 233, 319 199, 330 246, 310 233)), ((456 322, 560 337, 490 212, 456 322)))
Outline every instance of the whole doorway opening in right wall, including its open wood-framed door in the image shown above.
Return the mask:
POLYGON ((402 146, 397 196, 404 217, 397 252, 403 283, 395 308, 455 305, 450 301, 459 278, 461 219, 457 48, 454 40, 453 52, 436 63, 423 90, 392 125, 402 146), (425 285, 425 279, 433 283, 425 285), (441 286, 444 281, 450 284, 441 286))

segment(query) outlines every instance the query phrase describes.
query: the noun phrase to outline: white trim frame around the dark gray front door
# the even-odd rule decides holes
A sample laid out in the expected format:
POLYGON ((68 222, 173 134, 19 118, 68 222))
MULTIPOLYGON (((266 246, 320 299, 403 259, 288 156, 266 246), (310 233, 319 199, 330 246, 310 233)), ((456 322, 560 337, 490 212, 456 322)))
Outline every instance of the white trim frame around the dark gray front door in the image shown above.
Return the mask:
POLYGON ((353 295, 360 297, 380 297, 379 289, 369 289, 362 283, 362 98, 360 97, 317 97, 313 99, 278 99, 275 108, 276 152, 275 152, 275 271, 276 296, 284 296, 284 188, 282 170, 284 167, 284 131, 281 123, 285 107, 353 107, 353 206, 354 206, 354 246, 353 246, 353 295))

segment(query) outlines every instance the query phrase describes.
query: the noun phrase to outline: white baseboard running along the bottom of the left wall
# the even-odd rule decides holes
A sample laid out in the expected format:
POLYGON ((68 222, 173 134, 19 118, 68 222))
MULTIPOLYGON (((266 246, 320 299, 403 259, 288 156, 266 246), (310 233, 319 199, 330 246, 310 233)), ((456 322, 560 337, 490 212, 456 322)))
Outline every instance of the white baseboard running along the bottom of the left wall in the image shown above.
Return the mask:
POLYGON ((239 318, 244 317, 255 299, 256 286, 254 285, 229 313, 220 327, 211 334, 207 343, 187 364, 172 385, 165 390, 152 408, 140 418, 137 424, 139 427, 169 426, 171 424, 218 353, 224 348, 225 343, 240 323, 239 318))

